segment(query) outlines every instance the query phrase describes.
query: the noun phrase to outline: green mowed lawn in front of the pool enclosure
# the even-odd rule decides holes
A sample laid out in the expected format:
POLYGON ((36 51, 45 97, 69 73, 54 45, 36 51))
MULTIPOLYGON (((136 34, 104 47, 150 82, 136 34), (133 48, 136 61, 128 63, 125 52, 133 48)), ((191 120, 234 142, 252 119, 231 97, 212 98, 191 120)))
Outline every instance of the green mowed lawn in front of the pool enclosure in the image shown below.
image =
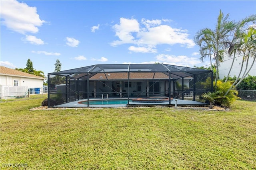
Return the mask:
POLYGON ((1 104, 1 169, 256 169, 256 103, 29 111, 1 104))

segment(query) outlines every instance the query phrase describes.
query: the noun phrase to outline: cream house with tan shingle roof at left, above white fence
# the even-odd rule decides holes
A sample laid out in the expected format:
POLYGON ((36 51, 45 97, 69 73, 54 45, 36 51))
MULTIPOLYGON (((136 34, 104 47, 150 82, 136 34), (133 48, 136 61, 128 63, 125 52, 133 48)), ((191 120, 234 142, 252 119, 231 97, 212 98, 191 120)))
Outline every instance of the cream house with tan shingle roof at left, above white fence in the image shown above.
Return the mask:
MULTIPOLYGON (((0 86, 2 87, 12 87, 16 90, 19 88, 26 91, 30 88, 40 88, 42 90, 44 80, 45 78, 40 76, 0 66, 0 86), (24 89, 25 87, 26 89, 24 89)), ((4 93, 2 87, 1 93, 4 93)))

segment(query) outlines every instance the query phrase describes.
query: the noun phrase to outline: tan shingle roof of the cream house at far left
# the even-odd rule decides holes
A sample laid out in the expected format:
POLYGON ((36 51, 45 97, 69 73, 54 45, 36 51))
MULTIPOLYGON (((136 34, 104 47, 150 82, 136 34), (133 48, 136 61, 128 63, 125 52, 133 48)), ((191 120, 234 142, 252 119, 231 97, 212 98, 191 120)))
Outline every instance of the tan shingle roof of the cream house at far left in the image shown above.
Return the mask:
POLYGON ((35 76, 33 74, 29 74, 29 73, 15 70, 12 68, 7 68, 4 66, 0 66, 0 74, 1 75, 9 75, 9 76, 18 76, 18 77, 29 77, 29 78, 36 78, 36 79, 42 79, 42 80, 45 79, 44 77, 35 76))

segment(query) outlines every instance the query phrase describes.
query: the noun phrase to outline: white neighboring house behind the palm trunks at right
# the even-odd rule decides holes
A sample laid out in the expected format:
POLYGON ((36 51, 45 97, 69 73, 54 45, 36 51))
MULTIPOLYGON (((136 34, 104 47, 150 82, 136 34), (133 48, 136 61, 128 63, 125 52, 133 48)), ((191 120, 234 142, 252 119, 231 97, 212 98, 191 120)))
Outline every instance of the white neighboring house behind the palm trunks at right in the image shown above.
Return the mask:
MULTIPOLYGON (((233 61, 233 57, 228 57, 227 55, 224 56, 224 62, 220 63, 220 67, 219 67, 219 77, 220 77, 220 79, 223 79, 224 76, 228 75, 228 72, 230 70, 232 61, 233 61)), ((234 76, 237 77, 239 75, 239 72, 241 70, 242 61, 243 61, 243 55, 239 55, 239 56, 237 55, 235 57, 234 64, 232 66, 232 70, 230 72, 230 77, 234 77, 234 76)), ((247 70, 252 65, 252 62, 253 62, 253 58, 250 58, 249 61, 248 61, 247 70)), ((242 69, 240 77, 243 75, 245 68, 246 68, 246 61, 244 61, 244 65, 243 65, 243 69, 242 69)), ((256 62, 254 62, 253 66, 252 66, 252 69, 250 70, 249 74, 251 76, 256 76, 256 62)))

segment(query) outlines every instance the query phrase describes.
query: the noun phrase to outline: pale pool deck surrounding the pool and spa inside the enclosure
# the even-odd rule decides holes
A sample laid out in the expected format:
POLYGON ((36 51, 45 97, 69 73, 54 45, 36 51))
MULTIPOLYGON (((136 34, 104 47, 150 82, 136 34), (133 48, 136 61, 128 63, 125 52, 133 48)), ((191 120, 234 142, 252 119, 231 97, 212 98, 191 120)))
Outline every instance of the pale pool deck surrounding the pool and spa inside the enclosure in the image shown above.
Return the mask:
MULTIPOLYGON (((108 100, 117 100, 118 98, 108 98, 108 100)), ((120 100, 124 100, 127 98, 119 98, 120 100)), ((100 98, 93 98, 90 99, 90 101, 92 100, 102 100, 100 98)), ((104 99, 107 100, 107 99, 104 99)), ((169 102, 161 102, 161 103, 146 103, 146 102, 129 102, 129 104, 108 104, 108 105, 92 105, 90 104, 90 107, 139 107, 139 106, 175 106, 175 101, 176 99, 173 99, 171 101, 171 105, 169 105, 169 102)), ((87 99, 83 99, 83 100, 78 100, 75 102, 70 102, 67 104, 61 104, 58 106, 54 106, 54 107, 88 107, 87 104, 79 104, 78 102, 86 102, 87 99)), ((131 101, 131 99, 130 99, 131 101)), ((193 101, 193 100, 180 100, 177 99, 177 106, 203 106, 203 105, 208 105, 206 103, 202 103, 202 102, 197 102, 197 101, 193 101)))

